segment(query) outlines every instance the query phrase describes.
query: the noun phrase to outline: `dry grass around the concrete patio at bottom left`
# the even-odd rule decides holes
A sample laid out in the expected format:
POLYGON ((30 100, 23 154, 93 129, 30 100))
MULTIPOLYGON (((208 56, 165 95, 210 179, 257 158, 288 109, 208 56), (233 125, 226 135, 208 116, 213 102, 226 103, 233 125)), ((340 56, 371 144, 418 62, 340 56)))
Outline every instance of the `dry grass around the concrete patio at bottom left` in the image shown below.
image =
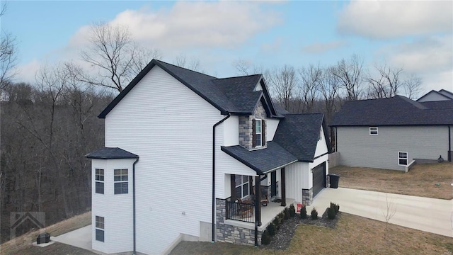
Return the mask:
MULTIPOLYGON (((91 224, 91 212, 85 212, 81 215, 76 215, 62 222, 42 229, 41 232, 49 232, 52 237, 59 236, 72 230, 79 229, 91 224)), ((93 254, 84 249, 79 249, 66 244, 51 244, 45 248, 33 246, 36 242, 36 237, 40 234, 40 230, 28 232, 27 234, 16 237, 16 239, 5 242, 0 245, 1 254, 93 254), (79 251, 80 250, 80 251, 79 251), (85 252, 85 253, 84 253, 85 252)))

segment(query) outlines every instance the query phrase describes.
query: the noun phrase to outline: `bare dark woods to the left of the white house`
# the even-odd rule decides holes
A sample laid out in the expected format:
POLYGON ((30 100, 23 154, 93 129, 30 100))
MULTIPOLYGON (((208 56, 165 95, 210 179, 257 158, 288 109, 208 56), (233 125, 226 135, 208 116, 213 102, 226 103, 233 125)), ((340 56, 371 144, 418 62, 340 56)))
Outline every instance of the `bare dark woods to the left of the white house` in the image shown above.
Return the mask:
POLYGON ((10 237, 11 212, 45 212, 50 225, 91 209, 91 166, 83 156, 103 146, 97 115, 113 95, 60 71, 2 91, 1 242, 10 237))

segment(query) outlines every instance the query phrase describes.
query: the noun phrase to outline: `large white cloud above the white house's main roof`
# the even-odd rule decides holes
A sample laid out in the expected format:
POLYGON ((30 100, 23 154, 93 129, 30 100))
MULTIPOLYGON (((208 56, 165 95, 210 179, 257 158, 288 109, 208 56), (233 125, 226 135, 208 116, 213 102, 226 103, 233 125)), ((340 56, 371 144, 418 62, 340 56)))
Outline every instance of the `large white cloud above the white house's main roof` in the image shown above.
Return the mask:
MULTIPOLYGON (((109 23, 127 26, 134 40, 165 53, 187 48, 238 47, 280 23, 280 16, 253 2, 180 1, 169 9, 126 10, 109 23)), ((88 28, 80 28, 70 45, 85 44, 88 28)))

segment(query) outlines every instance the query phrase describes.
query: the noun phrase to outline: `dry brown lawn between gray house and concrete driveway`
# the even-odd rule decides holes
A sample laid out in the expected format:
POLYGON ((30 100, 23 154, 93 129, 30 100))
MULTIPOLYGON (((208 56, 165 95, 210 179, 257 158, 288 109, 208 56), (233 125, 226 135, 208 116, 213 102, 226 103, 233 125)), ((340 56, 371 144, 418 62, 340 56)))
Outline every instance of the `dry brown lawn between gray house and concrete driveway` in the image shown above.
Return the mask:
POLYGON ((415 164, 403 171, 336 166, 331 174, 340 174, 338 186, 427 198, 453 198, 453 163, 415 164))

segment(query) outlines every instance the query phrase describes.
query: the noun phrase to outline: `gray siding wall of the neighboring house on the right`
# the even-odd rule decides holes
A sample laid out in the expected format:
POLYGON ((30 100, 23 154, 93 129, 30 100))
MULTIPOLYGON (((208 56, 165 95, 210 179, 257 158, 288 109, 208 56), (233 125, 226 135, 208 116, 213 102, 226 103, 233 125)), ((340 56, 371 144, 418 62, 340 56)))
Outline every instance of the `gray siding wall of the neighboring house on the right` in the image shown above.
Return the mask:
POLYGON ((340 164, 378 169, 405 170, 398 166, 398 152, 413 159, 447 158, 447 126, 377 126, 378 135, 369 135, 369 127, 337 127, 340 164))

